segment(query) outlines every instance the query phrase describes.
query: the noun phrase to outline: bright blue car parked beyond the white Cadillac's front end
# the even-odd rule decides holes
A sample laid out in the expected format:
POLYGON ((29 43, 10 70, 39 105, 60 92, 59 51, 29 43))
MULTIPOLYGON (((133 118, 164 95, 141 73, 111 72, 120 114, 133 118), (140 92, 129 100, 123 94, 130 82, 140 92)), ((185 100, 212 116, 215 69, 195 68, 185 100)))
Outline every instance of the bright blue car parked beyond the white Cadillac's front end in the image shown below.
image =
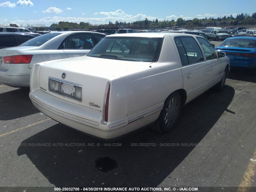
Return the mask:
POLYGON ((215 48, 226 53, 230 59, 231 68, 250 69, 256 74, 256 38, 231 37, 227 38, 215 48))

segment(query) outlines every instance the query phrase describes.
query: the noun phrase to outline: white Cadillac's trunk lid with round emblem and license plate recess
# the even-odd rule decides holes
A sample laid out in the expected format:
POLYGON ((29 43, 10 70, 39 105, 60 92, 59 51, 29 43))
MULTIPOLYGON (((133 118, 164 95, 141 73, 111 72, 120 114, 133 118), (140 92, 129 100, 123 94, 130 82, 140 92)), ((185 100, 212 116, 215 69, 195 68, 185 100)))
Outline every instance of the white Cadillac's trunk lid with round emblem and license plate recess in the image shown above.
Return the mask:
POLYGON ((108 82, 120 78, 120 76, 148 68, 147 63, 141 63, 143 62, 132 62, 131 64, 127 61, 120 62, 87 56, 47 62, 40 69, 39 86, 41 90, 58 98, 95 110, 103 110, 108 82), (49 80, 58 83, 58 92, 51 90, 49 80), (76 88, 81 89, 81 98, 75 96, 76 88), (68 94, 74 95, 68 96, 68 94))

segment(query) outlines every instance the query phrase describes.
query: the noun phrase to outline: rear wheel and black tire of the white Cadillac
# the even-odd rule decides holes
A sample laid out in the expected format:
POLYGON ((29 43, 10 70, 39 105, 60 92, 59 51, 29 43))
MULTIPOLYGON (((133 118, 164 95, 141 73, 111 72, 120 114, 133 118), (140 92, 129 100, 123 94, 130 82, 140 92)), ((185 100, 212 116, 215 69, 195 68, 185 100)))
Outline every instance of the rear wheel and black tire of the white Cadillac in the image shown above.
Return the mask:
POLYGON ((160 133, 170 132, 178 122, 180 111, 181 97, 178 92, 174 92, 165 100, 158 119, 151 126, 152 130, 160 133))

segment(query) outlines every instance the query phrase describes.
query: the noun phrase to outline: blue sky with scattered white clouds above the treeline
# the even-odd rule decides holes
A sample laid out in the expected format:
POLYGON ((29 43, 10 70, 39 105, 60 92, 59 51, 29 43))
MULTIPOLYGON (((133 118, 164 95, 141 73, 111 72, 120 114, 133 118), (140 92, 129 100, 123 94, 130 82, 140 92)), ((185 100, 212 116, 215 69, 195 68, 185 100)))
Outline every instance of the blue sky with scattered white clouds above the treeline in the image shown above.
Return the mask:
POLYGON ((60 21, 100 25, 145 18, 190 20, 254 12, 256 0, 0 0, 0 27, 40 27, 60 21))

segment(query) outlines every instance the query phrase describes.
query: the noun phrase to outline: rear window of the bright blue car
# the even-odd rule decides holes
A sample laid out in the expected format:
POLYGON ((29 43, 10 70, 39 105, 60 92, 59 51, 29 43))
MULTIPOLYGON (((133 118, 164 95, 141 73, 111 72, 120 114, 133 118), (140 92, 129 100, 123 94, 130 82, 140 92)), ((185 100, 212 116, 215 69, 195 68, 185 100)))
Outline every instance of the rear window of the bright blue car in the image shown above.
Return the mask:
POLYGON ((246 47, 253 48, 256 46, 256 41, 252 39, 227 39, 220 46, 223 47, 246 47))

